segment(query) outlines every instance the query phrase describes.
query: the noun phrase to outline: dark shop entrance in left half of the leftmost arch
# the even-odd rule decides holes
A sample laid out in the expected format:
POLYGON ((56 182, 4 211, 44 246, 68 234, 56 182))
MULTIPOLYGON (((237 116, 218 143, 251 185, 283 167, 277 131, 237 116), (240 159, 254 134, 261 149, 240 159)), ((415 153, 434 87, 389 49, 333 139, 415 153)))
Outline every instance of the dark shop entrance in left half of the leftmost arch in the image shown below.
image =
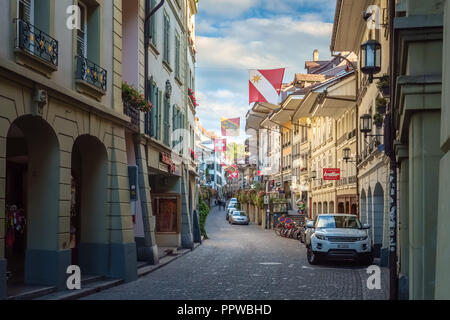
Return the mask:
POLYGON ((27 243, 28 151, 25 135, 12 125, 7 137, 5 257, 8 284, 23 283, 27 243))

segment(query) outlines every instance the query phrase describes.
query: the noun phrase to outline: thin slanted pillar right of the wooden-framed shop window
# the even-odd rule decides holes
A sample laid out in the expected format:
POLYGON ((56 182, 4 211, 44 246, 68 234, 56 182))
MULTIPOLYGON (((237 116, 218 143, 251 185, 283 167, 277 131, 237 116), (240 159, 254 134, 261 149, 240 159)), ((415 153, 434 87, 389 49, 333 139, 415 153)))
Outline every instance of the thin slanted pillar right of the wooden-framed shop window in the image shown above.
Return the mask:
POLYGON ((181 246, 183 249, 193 249, 194 239, 192 236, 191 213, 189 212, 189 173, 182 165, 181 176, 181 246))

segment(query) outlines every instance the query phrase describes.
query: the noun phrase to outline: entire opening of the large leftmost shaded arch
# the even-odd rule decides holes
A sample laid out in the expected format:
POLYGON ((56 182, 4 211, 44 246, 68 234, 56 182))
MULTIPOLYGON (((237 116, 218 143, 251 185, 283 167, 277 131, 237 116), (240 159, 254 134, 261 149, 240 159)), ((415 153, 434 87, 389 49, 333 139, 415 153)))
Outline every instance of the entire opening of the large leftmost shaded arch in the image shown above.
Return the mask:
POLYGON ((1 210, 6 214, 8 287, 55 284, 59 162, 58 139, 44 119, 27 115, 11 124, 1 173, 6 177, 1 210))

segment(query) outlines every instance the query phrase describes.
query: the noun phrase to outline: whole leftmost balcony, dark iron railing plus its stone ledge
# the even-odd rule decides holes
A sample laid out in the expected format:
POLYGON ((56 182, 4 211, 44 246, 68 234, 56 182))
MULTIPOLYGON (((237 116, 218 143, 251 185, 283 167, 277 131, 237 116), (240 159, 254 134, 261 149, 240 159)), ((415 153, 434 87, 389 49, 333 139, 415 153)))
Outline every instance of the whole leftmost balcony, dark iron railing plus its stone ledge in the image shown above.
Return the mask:
POLYGON ((58 69, 58 41, 29 22, 15 19, 17 62, 50 77, 58 69))

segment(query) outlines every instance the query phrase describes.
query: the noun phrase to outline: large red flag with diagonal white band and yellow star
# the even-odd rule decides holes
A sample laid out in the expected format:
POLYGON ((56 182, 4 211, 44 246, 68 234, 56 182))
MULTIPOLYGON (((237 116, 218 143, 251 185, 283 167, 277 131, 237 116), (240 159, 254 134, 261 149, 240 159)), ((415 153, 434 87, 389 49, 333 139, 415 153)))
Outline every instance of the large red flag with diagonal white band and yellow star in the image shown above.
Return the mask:
POLYGON ((249 103, 278 104, 285 69, 249 70, 249 103))

